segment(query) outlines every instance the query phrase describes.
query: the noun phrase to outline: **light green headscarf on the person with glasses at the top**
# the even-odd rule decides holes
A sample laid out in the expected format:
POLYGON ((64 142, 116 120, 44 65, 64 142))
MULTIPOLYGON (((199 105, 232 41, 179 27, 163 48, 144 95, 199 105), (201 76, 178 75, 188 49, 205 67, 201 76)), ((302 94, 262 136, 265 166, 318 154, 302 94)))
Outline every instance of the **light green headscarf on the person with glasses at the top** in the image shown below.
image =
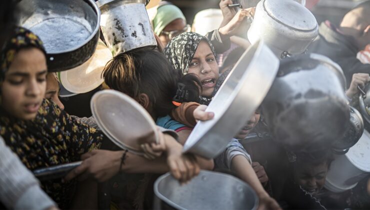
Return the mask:
POLYGON ((186 21, 185 16, 177 6, 173 4, 159 6, 153 19, 154 33, 159 35, 166 25, 178 18, 186 21))

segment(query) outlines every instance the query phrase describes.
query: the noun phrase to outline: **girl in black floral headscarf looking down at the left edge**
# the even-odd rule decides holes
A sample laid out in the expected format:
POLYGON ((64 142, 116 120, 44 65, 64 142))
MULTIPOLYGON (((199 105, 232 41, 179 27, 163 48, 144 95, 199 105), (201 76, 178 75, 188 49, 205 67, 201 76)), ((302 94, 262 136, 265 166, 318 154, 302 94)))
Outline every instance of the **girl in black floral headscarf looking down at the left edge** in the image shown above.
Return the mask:
MULTIPOLYGON (((46 68, 41 40, 16 28, 0 55, 0 135, 30 170, 78 161, 103 138, 43 99, 46 68)), ((76 181, 55 179, 41 186, 60 208, 70 207, 76 181)))

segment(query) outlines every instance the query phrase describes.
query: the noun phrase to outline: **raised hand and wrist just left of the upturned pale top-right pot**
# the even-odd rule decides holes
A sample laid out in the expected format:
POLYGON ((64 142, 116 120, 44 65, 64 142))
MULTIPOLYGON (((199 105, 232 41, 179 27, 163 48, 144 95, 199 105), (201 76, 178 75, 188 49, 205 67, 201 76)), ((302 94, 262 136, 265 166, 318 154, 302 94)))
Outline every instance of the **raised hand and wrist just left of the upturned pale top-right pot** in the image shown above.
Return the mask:
POLYGON ((254 16, 254 12, 255 12, 255 7, 250 7, 247 9, 240 9, 226 25, 218 29, 219 33, 224 36, 236 35, 243 19, 245 17, 254 16))

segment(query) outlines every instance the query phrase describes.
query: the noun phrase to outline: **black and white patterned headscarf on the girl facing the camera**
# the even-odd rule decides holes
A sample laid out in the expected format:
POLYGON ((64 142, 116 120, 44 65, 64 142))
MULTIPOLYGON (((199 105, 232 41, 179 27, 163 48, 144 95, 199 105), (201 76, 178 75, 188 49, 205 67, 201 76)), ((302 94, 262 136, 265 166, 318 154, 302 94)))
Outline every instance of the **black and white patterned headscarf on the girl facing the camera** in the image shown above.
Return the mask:
POLYGON ((207 37, 195 32, 185 32, 176 35, 164 48, 164 55, 175 69, 181 70, 182 74, 185 75, 201 40, 207 41, 215 57, 216 53, 212 43, 207 37))

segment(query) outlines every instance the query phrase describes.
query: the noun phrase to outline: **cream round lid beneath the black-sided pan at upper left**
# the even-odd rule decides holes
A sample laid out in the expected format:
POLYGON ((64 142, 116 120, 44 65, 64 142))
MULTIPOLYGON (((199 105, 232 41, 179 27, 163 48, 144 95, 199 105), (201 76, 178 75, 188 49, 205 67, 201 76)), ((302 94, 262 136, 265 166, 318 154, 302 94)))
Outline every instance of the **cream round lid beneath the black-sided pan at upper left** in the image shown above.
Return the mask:
POLYGON ((109 48, 99 40, 95 52, 86 62, 72 69, 58 72, 58 79, 70 92, 91 91, 104 81, 101 72, 112 57, 109 48))

